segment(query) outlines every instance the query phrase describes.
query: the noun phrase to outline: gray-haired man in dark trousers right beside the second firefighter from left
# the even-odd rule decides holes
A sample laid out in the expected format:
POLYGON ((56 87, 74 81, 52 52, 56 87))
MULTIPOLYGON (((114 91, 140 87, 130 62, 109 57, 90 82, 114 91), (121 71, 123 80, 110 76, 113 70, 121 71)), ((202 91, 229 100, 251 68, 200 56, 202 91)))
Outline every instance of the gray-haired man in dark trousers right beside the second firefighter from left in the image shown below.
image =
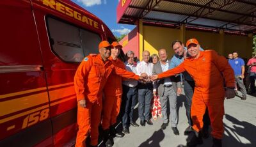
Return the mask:
MULTIPOLYGON (((129 72, 136 72, 136 65, 134 65, 134 52, 129 50, 126 54, 126 61, 124 63, 125 69, 129 72)), ((139 125, 133 120, 133 109, 136 105, 136 98, 138 94, 137 89, 138 81, 132 79, 124 79, 123 81, 123 96, 122 96, 122 124, 123 132, 129 134, 129 125, 133 127, 139 127, 139 125), (129 120, 129 121, 128 121, 129 120), (128 123, 129 122, 129 123, 128 123)))

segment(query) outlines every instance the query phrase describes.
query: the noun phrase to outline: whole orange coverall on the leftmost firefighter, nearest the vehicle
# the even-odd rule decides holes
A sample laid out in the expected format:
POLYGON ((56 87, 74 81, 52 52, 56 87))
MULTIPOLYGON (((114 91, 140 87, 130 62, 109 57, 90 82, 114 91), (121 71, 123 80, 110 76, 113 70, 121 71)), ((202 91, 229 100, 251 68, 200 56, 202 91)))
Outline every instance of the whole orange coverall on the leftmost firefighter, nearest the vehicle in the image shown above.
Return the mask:
POLYGON ((93 146, 98 144, 98 127, 102 111, 102 89, 112 71, 127 78, 139 79, 138 75, 114 66, 109 60, 104 63, 100 54, 87 56, 77 68, 74 77, 77 102, 85 99, 86 107, 83 108, 79 104, 77 106, 79 130, 77 132, 76 146, 86 146, 85 140, 89 131, 91 135, 90 144, 93 146))

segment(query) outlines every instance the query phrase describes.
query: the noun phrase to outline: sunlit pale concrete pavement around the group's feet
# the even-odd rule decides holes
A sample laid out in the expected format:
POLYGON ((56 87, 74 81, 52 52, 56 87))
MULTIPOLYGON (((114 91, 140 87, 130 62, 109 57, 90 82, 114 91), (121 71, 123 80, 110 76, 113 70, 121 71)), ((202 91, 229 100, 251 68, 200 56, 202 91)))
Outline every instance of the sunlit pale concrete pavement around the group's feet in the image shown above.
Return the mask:
MULTIPOLYGON (((241 93, 239 93, 241 95, 241 93)), ((154 125, 145 127, 130 127, 130 134, 125 134, 123 138, 115 138, 116 147, 157 147, 170 146, 177 147, 179 145, 186 146, 188 135, 184 135, 184 130, 188 127, 186 118, 186 110, 184 107, 184 95, 178 99, 179 105, 179 124, 178 129, 180 135, 174 135, 169 125, 165 130, 161 130, 163 121, 157 118, 153 121, 154 125)), ((136 109, 135 114, 138 113, 136 109)), ((136 116, 138 118, 138 116, 136 116)), ((140 119, 136 121, 140 124, 140 119)), ((225 126, 225 134, 223 137, 223 147, 234 146, 256 146, 256 97, 248 95, 246 100, 239 97, 225 100, 225 116, 223 118, 225 126)), ((119 126, 120 128, 122 125, 119 126)), ((212 137, 204 139, 204 144, 200 146, 211 146, 212 137)), ((102 144, 100 145, 102 146, 102 144)))

